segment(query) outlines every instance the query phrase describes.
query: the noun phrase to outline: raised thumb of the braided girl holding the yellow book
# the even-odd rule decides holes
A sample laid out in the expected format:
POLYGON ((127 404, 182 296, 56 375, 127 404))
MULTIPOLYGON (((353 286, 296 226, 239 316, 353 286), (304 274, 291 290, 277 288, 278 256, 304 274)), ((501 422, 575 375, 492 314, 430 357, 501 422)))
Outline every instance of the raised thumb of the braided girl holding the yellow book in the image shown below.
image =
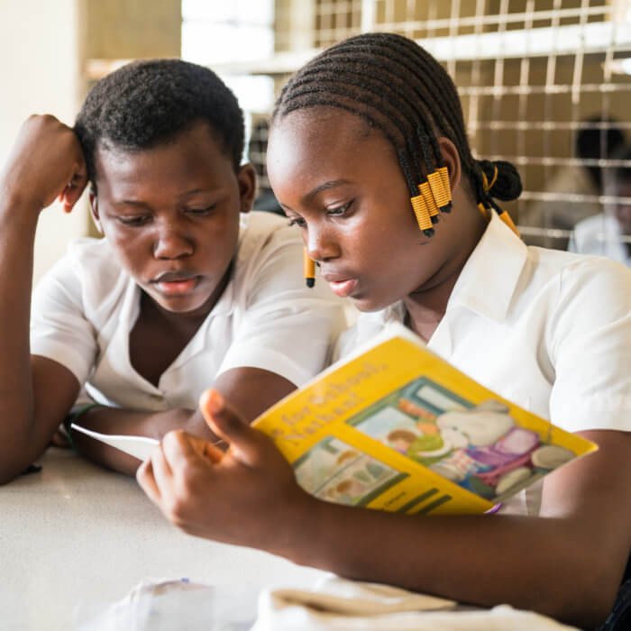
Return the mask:
POLYGON ((199 398, 199 408, 211 431, 230 444, 230 453, 251 467, 261 462, 268 446, 267 437, 243 421, 221 393, 206 390, 199 398))

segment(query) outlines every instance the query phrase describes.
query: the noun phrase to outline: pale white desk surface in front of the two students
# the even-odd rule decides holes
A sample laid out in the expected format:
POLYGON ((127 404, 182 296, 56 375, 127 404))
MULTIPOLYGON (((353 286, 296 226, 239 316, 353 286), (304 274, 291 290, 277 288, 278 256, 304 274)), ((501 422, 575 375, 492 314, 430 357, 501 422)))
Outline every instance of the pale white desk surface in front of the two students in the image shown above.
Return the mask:
MULTIPOLYGON (((0 486, 0 628, 72 628, 81 603, 142 579, 309 587, 322 572, 171 526, 132 478, 51 448, 42 471, 0 486)), ((256 516, 252 516, 256 518, 256 516)))

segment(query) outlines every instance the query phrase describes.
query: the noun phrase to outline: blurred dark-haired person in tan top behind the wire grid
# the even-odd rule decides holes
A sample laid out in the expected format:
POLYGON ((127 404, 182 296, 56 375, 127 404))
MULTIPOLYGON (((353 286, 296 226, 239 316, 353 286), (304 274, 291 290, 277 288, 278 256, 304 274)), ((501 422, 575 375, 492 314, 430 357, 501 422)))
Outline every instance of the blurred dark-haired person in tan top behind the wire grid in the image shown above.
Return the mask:
POLYGON ((530 244, 563 250, 568 247, 570 231, 576 224, 603 214, 603 205, 597 197, 605 194, 604 182, 610 167, 599 161, 611 160, 624 146, 625 135, 616 121, 600 116, 583 121, 573 147, 579 162, 559 169, 545 187, 546 193, 562 198, 537 201, 520 217, 523 224, 564 233, 555 237, 530 237, 530 244))

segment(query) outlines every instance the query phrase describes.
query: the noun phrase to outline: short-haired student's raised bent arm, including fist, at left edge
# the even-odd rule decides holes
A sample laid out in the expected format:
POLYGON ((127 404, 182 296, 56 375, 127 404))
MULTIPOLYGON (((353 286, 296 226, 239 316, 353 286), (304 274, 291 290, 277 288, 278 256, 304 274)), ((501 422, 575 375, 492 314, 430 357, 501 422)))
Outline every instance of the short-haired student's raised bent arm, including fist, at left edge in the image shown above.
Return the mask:
POLYGON ((51 116, 23 124, 0 176, 0 483, 45 449, 77 396, 69 370, 31 357, 32 262, 41 209, 70 209, 86 185, 77 138, 51 116))

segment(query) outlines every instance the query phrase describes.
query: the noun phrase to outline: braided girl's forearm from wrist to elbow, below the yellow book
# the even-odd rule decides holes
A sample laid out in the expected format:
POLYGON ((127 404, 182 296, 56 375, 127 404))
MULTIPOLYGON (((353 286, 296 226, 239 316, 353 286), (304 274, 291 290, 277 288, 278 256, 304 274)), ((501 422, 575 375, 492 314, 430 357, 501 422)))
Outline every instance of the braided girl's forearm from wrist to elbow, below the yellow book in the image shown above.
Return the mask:
POLYGON ((606 542, 566 520, 407 517, 311 503, 271 552, 355 580, 508 603, 574 624, 596 626, 613 605, 622 569, 601 561, 610 558, 606 542))

